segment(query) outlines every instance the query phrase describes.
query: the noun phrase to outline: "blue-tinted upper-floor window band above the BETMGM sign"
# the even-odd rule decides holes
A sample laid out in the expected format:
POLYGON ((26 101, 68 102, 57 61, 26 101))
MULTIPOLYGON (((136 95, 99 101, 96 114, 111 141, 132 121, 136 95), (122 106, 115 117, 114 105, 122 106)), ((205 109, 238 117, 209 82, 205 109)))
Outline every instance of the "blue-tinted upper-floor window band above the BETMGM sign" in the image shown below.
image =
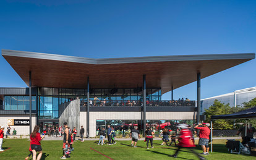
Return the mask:
MULTIPOLYGON (((4 96, 4 110, 29 110, 29 96, 4 96)), ((36 110, 36 96, 32 96, 32 110, 36 110)))

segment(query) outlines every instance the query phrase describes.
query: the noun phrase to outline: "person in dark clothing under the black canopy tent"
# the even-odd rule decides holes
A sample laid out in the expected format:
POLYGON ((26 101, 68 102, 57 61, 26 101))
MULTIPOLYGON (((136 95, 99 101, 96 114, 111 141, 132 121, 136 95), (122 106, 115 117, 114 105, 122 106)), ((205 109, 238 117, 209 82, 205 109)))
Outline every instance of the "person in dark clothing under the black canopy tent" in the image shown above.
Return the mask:
POLYGON ((243 127, 239 128, 236 135, 239 135, 239 133, 241 133, 242 144, 245 145, 250 141, 251 138, 254 138, 254 132, 256 132, 256 129, 252 127, 252 124, 250 124, 249 127, 247 127, 247 135, 245 137, 245 124, 244 124, 243 127))

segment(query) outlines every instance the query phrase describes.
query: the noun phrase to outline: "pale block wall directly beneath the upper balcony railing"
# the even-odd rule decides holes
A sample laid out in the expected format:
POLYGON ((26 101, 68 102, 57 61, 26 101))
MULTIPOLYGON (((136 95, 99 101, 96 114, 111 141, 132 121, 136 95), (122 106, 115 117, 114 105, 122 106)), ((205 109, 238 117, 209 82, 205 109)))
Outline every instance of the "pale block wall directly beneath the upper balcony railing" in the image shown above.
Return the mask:
MULTIPOLYGON (((96 136, 96 120, 140 120, 141 112, 90 112, 90 137, 96 136)), ((194 112, 147 112, 148 120, 192 120, 194 112)), ((86 112, 80 112, 80 124, 86 128, 86 112)))

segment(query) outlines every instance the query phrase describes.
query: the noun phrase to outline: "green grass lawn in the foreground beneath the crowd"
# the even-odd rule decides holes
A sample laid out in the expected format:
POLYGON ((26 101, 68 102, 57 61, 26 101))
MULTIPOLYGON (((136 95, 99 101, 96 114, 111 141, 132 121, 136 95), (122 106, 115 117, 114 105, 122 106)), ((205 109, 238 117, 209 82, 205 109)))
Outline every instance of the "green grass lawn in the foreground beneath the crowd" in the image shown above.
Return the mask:
MULTIPOLYGON (((73 145, 75 149, 70 154, 70 159, 174 159, 169 155, 176 151, 174 146, 161 146, 161 141, 153 141, 155 146, 153 149, 147 149, 144 141, 138 142, 138 148, 131 147, 130 141, 117 141, 116 145, 111 146, 101 146, 97 143, 98 141, 75 141, 73 145)), ((228 153, 228 149, 224 146, 226 140, 214 140, 213 144, 214 152, 205 156, 207 159, 256 159, 253 156, 228 153)), ((60 159, 62 156, 62 141, 42 141, 41 145, 43 148, 41 159, 60 159)), ((29 141, 26 139, 6 139, 2 146, 4 149, 10 149, 0 153, 0 159, 24 159, 29 153, 29 141)), ((202 153, 200 148, 196 149, 198 153, 202 153)), ((30 158, 32 159, 32 156, 30 158)), ((197 157, 187 152, 187 149, 182 149, 176 159, 197 159, 197 157)))

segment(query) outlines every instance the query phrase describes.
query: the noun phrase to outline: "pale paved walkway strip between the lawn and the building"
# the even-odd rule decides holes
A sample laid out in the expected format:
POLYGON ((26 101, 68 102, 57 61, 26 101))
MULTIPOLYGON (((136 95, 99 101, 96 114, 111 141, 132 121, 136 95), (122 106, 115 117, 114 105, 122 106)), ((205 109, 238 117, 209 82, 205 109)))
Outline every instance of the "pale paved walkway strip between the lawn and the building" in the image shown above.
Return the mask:
MULTIPOLYGON (((117 141, 130 141, 130 138, 115 138, 117 141)), ((198 140, 199 138, 196 137, 195 140, 198 140)), ((241 137, 213 137, 213 140, 227 140, 227 139, 241 139, 241 137)), ((62 141, 63 137, 48 137, 46 135, 44 140, 55 140, 55 141, 62 141)), ((75 140, 80 140, 79 137, 75 137, 75 140)), ((85 141, 98 141, 99 138, 83 138, 85 141)), ((106 140, 106 138, 105 138, 106 140)), ((140 138, 139 140, 144 140, 144 138, 140 138)), ((162 140, 161 138, 157 137, 154 138, 154 140, 162 140)))

